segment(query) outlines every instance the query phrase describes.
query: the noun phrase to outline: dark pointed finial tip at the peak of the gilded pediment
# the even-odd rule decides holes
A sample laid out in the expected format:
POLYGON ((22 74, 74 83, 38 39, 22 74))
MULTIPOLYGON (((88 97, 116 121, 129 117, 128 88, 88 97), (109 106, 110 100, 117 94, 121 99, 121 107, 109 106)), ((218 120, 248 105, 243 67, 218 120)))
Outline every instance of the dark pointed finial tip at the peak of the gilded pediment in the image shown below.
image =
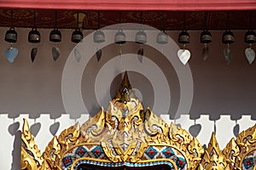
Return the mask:
POLYGON ((120 84, 119 90, 116 92, 114 99, 118 99, 119 101, 126 104, 126 102, 131 99, 131 84, 129 82, 129 78, 127 75, 127 71, 125 71, 125 76, 123 78, 122 83, 120 84))

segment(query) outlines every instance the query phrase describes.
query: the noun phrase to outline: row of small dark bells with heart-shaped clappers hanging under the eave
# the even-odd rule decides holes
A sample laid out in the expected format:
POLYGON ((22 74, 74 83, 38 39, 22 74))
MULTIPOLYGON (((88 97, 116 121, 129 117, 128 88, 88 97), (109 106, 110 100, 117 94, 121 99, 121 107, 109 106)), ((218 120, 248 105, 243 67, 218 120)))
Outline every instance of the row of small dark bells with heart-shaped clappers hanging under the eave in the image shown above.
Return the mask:
MULTIPOLYGON (((82 41, 84 36, 82 31, 80 31, 80 27, 79 27, 79 13, 77 13, 76 18, 77 18, 77 28, 75 31, 73 31, 71 40, 72 42, 78 43, 82 41)), ((120 13, 119 13, 119 23, 121 23, 120 13)), ((142 24, 143 24, 143 13, 141 13, 141 25, 142 24)), ((13 47, 13 44, 17 42, 17 32, 13 27, 13 11, 11 11, 11 27, 6 32, 4 40, 10 43, 10 47, 5 51, 5 56, 10 63, 13 63, 19 52, 18 48, 13 47)), ((34 26, 32 28, 32 31, 29 31, 29 34, 28 34, 28 42, 31 42, 33 44, 33 47, 31 50, 32 62, 34 62, 36 55, 38 54, 38 48, 35 47, 35 44, 40 41, 41 41, 41 36, 36 27, 36 13, 34 11, 34 26)), ((49 41, 55 42, 55 46, 52 48, 52 57, 54 60, 57 60, 61 54, 60 49, 57 47, 57 44, 61 42, 61 31, 57 29, 57 12, 55 12, 55 28, 54 30, 50 31, 49 41)), ((245 34, 244 41, 249 44, 249 47, 246 48, 245 50, 245 54, 249 64, 251 65, 253 63, 253 60, 255 59, 255 52, 252 48, 252 45, 254 42, 256 42, 256 34, 252 29, 252 13, 251 12, 250 12, 249 30, 245 34)), ((98 30, 95 31, 94 33, 94 42, 96 43, 105 42, 104 32, 100 30, 100 13, 99 12, 98 12, 98 30)), ((119 31, 115 34, 114 42, 119 44, 119 55, 121 56, 122 54, 121 45, 126 42, 125 33, 121 28, 119 28, 119 31)), ((137 58, 140 62, 143 62, 143 54, 144 54, 143 44, 147 42, 147 35, 143 31, 143 28, 141 28, 137 32, 135 42, 140 44, 140 48, 137 51, 137 58)), ((156 42, 158 42, 161 45, 164 45, 168 42, 168 35, 164 30, 164 13, 162 13, 162 29, 160 33, 157 35, 156 42)), ((186 13, 184 13, 184 29, 178 36, 178 42, 183 44, 183 49, 178 50, 177 56, 181 60, 183 65, 186 65, 191 55, 189 50, 186 49, 186 44, 189 43, 189 33, 186 31, 186 13)), ((204 44, 204 47, 202 49, 202 58, 204 60, 206 60, 209 56, 209 48, 207 44, 210 42, 212 42, 212 34, 207 30, 207 12, 206 12, 205 29, 201 32, 201 43, 204 44)), ((230 28, 229 28, 229 12, 227 12, 227 30, 224 31, 222 42, 224 44, 227 44, 227 48, 224 48, 224 58, 226 59, 227 64, 230 65, 230 61, 232 59, 230 44, 235 42, 235 37, 233 32, 230 31, 230 28)), ((74 53, 77 61, 79 62, 79 60, 82 58, 82 54, 79 52, 79 49, 77 48, 75 48, 74 53)), ((96 48, 96 59, 99 61, 101 58, 102 58, 102 49, 96 48)))

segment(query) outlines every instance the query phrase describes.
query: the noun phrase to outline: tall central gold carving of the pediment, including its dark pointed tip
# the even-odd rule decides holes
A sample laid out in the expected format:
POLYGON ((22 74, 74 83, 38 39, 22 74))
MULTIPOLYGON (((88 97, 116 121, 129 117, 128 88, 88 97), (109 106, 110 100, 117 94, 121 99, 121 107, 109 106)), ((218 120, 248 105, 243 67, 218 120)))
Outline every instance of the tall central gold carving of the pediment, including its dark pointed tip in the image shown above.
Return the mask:
POLYGON ((147 146, 143 136, 143 115, 143 105, 131 91, 129 80, 124 78, 106 111, 105 127, 112 130, 108 131, 108 139, 102 141, 102 146, 111 161, 135 162, 143 156, 141 150, 147 146))

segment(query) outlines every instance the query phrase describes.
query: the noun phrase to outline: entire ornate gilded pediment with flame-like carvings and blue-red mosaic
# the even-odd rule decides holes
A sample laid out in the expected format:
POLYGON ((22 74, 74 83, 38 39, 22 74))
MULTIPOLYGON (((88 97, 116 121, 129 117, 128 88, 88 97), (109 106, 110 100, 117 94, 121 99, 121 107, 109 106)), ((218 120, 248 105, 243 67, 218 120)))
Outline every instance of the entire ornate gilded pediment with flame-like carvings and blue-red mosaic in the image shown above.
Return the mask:
POLYGON ((162 164, 175 170, 255 169, 255 159, 251 159, 255 127, 231 139, 223 151, 212 133, 204 150, 198 139, 191 139, 182 127, 174 123, 168 126, 150 108, 144 112, 126 72, 107 111, 102 108, 81 126, 77 123, 63 130, 50 140, 44 157, 34 144, 26 120, 22 130, 21 169, 76 170, 83 164, 120 169, 162 164))

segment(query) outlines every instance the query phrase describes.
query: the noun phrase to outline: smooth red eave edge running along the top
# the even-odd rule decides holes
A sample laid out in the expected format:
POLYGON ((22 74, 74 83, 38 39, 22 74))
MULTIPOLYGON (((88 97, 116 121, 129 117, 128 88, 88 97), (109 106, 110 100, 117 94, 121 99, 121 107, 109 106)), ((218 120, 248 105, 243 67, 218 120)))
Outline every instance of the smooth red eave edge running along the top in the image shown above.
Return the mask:
POLYGON ((0 0, 0 8, 71 10, 256 10, 256 0, 0 0))

